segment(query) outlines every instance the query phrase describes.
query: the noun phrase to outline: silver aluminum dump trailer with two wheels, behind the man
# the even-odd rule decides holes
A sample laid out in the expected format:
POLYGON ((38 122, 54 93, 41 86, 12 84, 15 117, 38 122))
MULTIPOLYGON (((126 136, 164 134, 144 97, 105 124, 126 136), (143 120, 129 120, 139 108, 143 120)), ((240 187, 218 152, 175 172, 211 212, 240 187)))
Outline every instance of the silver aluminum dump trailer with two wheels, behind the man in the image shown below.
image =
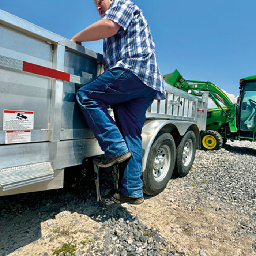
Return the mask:
MULTIPOLYGON (((75 99, 102 72, 101 54, 0 10, 0 196, 61 188, 65 168, 103 154, 75 99)), ((142 131, 148 194, 187 174, 206 124, 207 93, 165 89, 142 131)))

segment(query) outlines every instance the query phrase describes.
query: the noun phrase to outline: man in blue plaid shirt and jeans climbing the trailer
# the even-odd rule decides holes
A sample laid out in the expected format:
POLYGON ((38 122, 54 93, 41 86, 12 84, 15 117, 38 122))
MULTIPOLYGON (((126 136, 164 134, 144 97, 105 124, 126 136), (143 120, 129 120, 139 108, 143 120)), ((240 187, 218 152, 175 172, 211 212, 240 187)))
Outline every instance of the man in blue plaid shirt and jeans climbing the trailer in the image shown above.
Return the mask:
POLYGON ((141 131, 154 99, 165 99, 154 42, 142 11, 130 0, 94 0, 101 20, 74 35, 71 41, 103 40, 105 72, 81 87, 76 95, 84 118, 97 138, 109 167, 123 162, 120 191, 110 191, 116 203, 144 201, 140 178, 141 131), (106 105, 111 105, 115 121, 106 105))

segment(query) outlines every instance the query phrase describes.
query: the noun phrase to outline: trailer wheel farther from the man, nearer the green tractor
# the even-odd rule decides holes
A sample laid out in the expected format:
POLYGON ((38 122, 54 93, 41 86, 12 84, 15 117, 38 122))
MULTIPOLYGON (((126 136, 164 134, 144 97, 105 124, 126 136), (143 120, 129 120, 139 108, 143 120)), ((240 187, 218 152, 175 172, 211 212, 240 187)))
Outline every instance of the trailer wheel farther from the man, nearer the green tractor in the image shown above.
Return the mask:
POLYGON ((184 177, 191 169, 196 154, 196 135, 193 131, 185 133, 176 150, 174 173, 184 177))

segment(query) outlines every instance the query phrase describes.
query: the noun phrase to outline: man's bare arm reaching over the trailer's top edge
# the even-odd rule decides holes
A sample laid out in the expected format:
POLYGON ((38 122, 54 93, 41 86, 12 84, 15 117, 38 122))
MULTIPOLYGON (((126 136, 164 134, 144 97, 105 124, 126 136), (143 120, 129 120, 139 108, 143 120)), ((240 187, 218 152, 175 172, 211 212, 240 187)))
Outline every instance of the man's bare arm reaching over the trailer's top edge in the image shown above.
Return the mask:
POLYGON ((112 37, 119 29, 120 25, 113 20, 101 19, 74 35, 70 41, 81 45, 81 42, 112 37))

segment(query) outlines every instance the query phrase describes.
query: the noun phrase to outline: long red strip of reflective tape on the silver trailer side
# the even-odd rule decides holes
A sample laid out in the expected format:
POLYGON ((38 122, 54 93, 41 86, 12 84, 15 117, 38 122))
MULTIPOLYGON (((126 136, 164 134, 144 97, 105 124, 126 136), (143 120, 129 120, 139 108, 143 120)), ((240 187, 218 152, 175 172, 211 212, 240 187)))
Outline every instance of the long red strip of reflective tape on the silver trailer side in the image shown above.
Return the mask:
POLYGON ((58 71, 52 68, 46 68, 43 66, 39 66, 36 64, 32 64, 26 61, 23 61, 23 71, 30 72, 33 74, 37 75, 42 75, 42 76, 49 76, 52 78, 64 80, 64 81, 69 81, 70 80, 70 74, 58 71))

